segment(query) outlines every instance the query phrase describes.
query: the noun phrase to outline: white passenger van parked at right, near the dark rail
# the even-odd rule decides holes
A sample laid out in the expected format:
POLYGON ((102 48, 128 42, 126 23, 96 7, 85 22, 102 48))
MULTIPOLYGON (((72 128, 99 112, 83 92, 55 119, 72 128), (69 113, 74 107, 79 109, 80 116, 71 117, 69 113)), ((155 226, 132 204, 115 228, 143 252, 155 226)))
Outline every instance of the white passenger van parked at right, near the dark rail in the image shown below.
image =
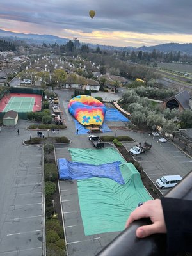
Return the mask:
POLYGON ((160 179, 157 179, 156 184, 161 189, 172 188, 180 180, 182 180, 182 177, 180 177, 180 175, 168 175, 168 176, 163 176, 160 179))

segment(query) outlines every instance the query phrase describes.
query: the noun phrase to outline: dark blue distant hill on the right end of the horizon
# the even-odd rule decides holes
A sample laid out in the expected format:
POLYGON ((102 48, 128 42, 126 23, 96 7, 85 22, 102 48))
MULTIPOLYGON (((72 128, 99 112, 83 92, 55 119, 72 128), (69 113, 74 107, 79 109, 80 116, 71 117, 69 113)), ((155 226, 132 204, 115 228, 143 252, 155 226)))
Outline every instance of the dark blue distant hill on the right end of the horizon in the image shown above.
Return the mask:
POLYGON ((192 44, 177 44, 177 43, 169 43, 169 44, 159 44, 155 46, 143 46, 137 49, 137 51, 148 51, 152 52, 153 49, 156 49, 160 52, 170 52, 170 51, 180 51, 186 54, 192 54, 192 44))

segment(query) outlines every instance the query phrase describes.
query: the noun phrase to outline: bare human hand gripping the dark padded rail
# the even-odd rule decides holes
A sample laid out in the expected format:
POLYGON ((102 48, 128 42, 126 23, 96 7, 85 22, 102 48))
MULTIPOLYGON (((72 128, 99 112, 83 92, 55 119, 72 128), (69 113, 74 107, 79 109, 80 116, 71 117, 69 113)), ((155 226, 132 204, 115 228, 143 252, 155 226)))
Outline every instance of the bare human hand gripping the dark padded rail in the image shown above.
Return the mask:
POLYGON ((150 218, 152 224, 139 227, 136 230, 136 236, 138 238, 147 237, 155 233, 166 233, 161 200, 150 200, 136 208, 130 214, 126 223, 126 228, 129 227, 134 220, 139 220, 141 218, 150 218))

